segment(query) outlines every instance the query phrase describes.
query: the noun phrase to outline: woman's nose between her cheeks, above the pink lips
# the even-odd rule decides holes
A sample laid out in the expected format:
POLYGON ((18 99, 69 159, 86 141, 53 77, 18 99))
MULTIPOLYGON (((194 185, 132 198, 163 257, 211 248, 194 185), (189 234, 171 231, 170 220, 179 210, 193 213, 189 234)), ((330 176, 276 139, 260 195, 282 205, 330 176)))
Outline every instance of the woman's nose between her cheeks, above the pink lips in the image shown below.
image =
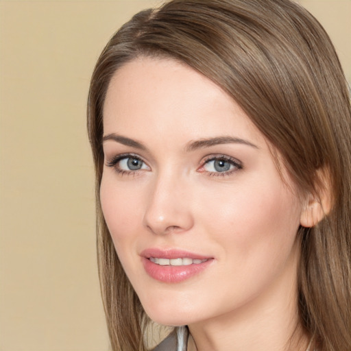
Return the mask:
POLYGON ((186 232, 193 227, 191 191, 175 176, 159 176, 151 186, 143 225, 154 234, 186 232))

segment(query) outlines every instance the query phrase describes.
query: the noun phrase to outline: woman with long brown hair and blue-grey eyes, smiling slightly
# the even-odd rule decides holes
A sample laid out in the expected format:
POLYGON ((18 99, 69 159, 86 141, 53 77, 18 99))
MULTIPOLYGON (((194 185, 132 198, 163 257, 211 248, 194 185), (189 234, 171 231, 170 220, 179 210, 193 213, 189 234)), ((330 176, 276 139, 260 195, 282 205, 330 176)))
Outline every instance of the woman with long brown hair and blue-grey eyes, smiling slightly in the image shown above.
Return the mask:
POLYGON ((113 350, 351 350, 350 97, 289 0, 173 0, 95 67, 88 133, 113 350), (188 339, 188 335, 190 335, 188 339))

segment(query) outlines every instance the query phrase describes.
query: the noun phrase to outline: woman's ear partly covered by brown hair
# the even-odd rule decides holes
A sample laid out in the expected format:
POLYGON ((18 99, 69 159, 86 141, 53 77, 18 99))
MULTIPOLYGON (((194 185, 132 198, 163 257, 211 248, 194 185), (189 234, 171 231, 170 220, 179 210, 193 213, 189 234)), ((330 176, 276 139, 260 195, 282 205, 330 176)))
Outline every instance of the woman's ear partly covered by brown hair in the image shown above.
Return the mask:
POLYGON ((311 228, 322 221, 330 212, 332 206, 332 192, 329 171, 318 169, 316 174, 317 193, 309 193, 304 202, 300 216, 300 224, 311 228))

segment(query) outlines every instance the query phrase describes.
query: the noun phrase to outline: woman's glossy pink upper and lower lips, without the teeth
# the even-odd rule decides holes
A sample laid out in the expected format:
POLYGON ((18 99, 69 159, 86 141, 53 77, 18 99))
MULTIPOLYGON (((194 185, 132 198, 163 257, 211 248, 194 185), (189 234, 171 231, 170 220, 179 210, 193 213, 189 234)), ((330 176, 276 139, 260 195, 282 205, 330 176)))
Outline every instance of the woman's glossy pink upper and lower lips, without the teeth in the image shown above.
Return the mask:
POLYGON ((212 257, 206 257, 182 250, 159 250, 147 249, 141 252, 144 269, 152 278, 167 283, 177 283, 189 279, 204 271, 211 263, 212 257), (191 258, 202 263, 192 263, 191 265, 159 265, 150 261, 150 258, 165 258, 166 260, 175 258, 191 258), (206 261, 204 261, 206 260, 206 261))

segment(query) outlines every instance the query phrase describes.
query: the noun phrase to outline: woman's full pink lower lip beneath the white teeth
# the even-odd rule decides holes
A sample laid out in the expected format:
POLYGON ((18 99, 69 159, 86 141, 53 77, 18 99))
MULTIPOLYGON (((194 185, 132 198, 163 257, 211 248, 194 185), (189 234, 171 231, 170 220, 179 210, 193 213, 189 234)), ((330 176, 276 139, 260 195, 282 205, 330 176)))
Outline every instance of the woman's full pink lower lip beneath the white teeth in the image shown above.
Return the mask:
POLYGON ((186 266, 162 266, 156 265, 156 263, 153 263, 149 259, 143 257, 143 265, 147 274, 160 282, 168 283, 182 282, 196 276, 204 271, 212 262, 213 259, 210 258, 208 261, 199 264, 186 266))

